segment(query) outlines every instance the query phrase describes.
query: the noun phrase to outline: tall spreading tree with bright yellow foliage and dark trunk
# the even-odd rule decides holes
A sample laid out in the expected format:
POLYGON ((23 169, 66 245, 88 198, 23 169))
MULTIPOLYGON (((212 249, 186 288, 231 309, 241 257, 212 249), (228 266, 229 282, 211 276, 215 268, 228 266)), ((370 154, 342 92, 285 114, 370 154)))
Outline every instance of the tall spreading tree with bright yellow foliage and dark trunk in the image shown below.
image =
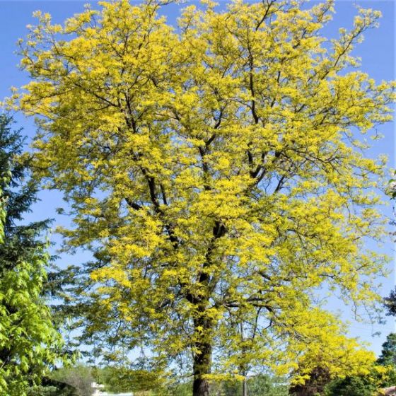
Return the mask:
POLYGON ((37 13, 21 42, 37 177, 69 202, 66 246, 93 252, 76 273, 81 342, 105 359, 141 349, 158 373, 181 362, 194 396, 240 367, 364 371, 372 354, 316 297, 378 301, 385 259, 365 242, 384 235, 385 161, 357 136, 390 120, 395 85, 351 50, 379 13, 328 41, 331 2, 206 1, 177 28, 160 10, 37 13))

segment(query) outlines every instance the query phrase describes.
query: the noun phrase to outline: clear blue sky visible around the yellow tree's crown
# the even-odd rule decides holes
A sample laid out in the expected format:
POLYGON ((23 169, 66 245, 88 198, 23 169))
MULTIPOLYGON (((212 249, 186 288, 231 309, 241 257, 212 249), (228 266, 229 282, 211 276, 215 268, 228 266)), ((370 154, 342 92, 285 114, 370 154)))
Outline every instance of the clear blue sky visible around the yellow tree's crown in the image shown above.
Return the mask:
MULTIPOLYGON (((24 37, 28 24, 34 24, 32 17, 33 11, 42 10, 52 15, 54 22, 62 23, 65 18, 72 16, 74 13, 83 11, 83 5, 90 1, 73 0, 51 0, 51 1, 1 1, 0 0, 0 100, 10 94, 11 86, 20 87, 28 82, 28 76, 18 69, 19 57, 16 54, 16 42, 18 38, 24 37)), ((93 2, 94 3, 94 2, 93 2)), ((313 2, 314 3, 314 2, 313 2)), ((225 4, 221 1, 221 4, 225 4)), ((340 27, 349 28, 356 15, 356 5, 364 8, 375 8, 382 11, 383 18, 380 21, 380 28, 369 30, 365 34, 364 42, 356 47, 354 54, 362 59, 361 70, 366 71, 376 81, 391 80, 396 78, 395 73, 395 20, 396 20, 396 1, 394 0, 376 0, 376 1, 359 1, 359 0, 336 0, 336 15, 334 20, 324 30, 323 34, 327 37, 337 37, 337 31, 340 27)), ((180 6, 172 5, 164 8, 163 13, 168 16, 170 23, 175 22, 175 18, 180 10, 180 6)), ((28 120, 21 114, 16 114, 15 118, 18 127, 23 127, 28 139, 35 134, 33 120, 28 120)), ((382 141, 376 141, 375 147, 369 151, 370 156, 376 156, 378 153, 385 153, 390 158, 390 165, 395 164, 395 124, 390 123, 380 127, 379 132, 385 135, 382 141)), ((29 220, 40 220, 45 218, 54 218, 54 225, 66 225, 67 220, 58 216, 55 209, 62 206, 62 195, 56 191, 45 191, 40 193, 41 202, 35 204, 33 213, 28 216, 29 220)), ((388 215, 391 214, 388 209, 388 215)), ((52 234, 51 239, 59 246, 59 237, 52 234)), ((392 245, 380 248, 389 255, 394 256, 392 245)), ((80 252, 74 256, 63 255, 59 264, 78 264, 84 262, 89 257, 88 254, 80 252)), ((393 262, 391 263, 391 269, 393 262)), ((383 295, 388 294, 392 289, 394 274, 388 279, 383 279, 383 295)), ((371 344, 371 348, 379 353, 381 344, 384 342, 386 334, 394 331, 394 320, 388 319, 386 325, 369 325, 357 323, 351 319, 346 307, 341 301, 331 299, 330 308, 339 310, 343 318, 351 320, 351 336, 360 336, 364 341, 371 344), (372 337, 373 332, 381 332, 379 337, 372 337)))

